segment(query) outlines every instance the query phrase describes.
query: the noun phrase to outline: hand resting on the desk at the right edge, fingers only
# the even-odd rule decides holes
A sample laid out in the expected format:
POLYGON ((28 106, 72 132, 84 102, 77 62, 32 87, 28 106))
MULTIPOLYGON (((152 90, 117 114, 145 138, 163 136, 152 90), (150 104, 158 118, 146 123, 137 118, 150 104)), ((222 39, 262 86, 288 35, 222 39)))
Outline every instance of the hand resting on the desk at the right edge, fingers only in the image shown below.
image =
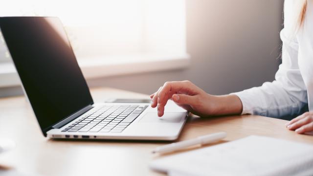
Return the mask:
POLYGON ((289 130, 302 134, 313 131, 313 112, 305 112, 286 124, 289 130))

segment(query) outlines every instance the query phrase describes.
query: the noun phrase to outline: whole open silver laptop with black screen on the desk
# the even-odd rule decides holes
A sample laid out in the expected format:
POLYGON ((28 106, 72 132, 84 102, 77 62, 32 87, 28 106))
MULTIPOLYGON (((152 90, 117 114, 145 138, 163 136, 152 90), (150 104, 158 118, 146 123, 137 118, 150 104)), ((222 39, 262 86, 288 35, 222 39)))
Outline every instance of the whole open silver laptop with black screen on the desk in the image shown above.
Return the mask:
POLYGON ((94 103, 58 18, 1 17, 0 29, 46 137, 178 138, 188 112, 172 101, 161 118, 149 102, 94 103))

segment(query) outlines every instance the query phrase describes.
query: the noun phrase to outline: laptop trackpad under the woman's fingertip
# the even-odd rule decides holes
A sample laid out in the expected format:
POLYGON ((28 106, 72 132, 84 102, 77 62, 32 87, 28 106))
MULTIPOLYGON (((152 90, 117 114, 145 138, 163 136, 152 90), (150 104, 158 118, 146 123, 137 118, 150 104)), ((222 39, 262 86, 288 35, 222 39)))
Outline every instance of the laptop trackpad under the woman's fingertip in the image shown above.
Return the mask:
POLYGON ((179 123, 185 117, 185 112, 165 112, 162 117, 158 117, 156 112, 146 113, 139 123, 179 123))

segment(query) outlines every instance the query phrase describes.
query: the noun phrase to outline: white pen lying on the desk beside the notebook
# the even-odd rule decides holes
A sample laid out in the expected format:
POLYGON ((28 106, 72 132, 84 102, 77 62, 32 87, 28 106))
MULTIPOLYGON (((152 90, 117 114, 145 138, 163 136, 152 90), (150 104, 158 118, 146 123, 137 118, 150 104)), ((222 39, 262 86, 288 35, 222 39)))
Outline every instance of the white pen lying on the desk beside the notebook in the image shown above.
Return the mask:
POLYGON ((168 152, 173 152, 179 149, 183 149, 186 147, 198 145, 198 144, 209 144, 213 142, 217 142, 221 139, 226 137, 226 132, 217 132, 213 134, 208 134, 204 136, 199 136, 195 139, 190 139, 186 141, 181 141, 181 142, 175 142, 172 144, 164 145, 161 147, 157 147, 152 151, 152 153, 168 153, 168 152))

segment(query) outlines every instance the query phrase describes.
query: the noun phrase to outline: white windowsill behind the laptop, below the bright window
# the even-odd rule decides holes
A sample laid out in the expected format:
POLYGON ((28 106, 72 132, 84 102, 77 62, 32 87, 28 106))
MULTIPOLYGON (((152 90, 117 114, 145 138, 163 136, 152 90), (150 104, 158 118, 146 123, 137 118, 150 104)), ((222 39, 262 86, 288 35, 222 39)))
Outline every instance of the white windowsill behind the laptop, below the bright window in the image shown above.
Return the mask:
MULTIPOLYGON (((78 64, 86 79, 126 75, 142 72, 164 71, 189 66, 188 54, 181 55, 125 55, 102 59, 81 58, 78 64)), ((20 79, 12 63, 0 63, 0 88, 19 86, 20 79)))

